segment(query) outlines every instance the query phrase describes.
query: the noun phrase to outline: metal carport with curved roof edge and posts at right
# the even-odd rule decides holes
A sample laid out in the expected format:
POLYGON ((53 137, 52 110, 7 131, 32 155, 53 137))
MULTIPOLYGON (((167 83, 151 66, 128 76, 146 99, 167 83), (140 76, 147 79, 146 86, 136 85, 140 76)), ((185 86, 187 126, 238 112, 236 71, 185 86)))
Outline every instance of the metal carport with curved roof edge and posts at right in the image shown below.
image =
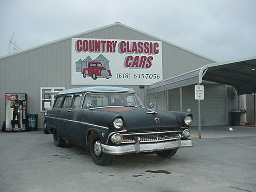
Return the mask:
MULTIPOLYGON (((151 84, 147 94, 179 88, 180 111, 182 111, 182 87, 202 81, 233 86, 239 95, 254 94, 254 124, 256 124, 256 57, 241 60, 207 64, 201 68, 151 84)), ((167 98, 166 98, 167 99, 167 98)), ((200 100, 197 100, 198 136, 201 137, 200 100)))

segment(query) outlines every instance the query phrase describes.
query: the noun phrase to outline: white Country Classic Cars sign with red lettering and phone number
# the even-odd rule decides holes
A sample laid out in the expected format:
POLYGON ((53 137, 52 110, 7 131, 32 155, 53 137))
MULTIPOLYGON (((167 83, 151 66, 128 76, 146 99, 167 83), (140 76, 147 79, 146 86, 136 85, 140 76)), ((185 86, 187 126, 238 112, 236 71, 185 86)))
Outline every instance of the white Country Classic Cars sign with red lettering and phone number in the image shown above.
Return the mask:
POLYGON ((162 42, 72 38, 72 85, 149 85, 162 77, 162 42))

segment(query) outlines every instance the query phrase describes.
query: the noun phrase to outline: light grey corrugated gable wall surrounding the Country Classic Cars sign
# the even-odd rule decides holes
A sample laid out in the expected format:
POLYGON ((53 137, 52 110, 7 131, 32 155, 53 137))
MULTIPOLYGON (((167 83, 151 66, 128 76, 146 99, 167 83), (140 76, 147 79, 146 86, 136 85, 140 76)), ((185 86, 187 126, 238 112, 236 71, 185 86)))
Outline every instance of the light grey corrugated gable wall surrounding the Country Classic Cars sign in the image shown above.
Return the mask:
MULTIPOLYGON (((74 38, 159 40, 122 24, 74 38)), ((164 79, 213 62, 166 42, 162 42, 162 61, 164 79)), ((20 92, 28 94, 28 113, 39 114, 39 127, 42 128, 44 114, 40 112, 40 87, 80 87, 71 85, 71 38, 0 59, 0 122, 5 119, 5 93, 20 92)), ((123 87, 133 88, 146 104, 148 86, 123 87)))

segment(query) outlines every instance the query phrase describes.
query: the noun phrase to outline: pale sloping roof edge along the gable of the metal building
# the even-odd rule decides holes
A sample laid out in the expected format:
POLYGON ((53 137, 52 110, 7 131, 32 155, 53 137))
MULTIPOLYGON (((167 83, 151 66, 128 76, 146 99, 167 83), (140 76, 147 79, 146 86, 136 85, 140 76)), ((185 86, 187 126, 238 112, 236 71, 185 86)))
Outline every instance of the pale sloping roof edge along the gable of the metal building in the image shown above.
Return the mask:
POLYGON ((138 29, 132 28, 132 27, 127 26, 127 25, 125 25, 125 24, 122 24, 122 23, 120 23, 120 22, 115 22, 115 23, 113 23, 113 24, 109 24, 109 25, 106 25, 106 26, 102 26, 102 27, 99 27, 99 28, 96 28, 96 29, 93 29, 93 30, 88 30, 88 31, 86 31, 86 32, 81 32, 81 33, 78 33, 78 34, 75 34, 75 35, 72 35, 72 36, 68 36, 68 37, 61 38, 61 39, 58 39, 58 40, 54 40, 54 41, 51 41, 51 42, 48 42, 48 43, 45 43, 45 44, 41 44, 41 45, 38 45, 38 46, 34 46, 34 47, 32 47, 32 48, 24 49, 24 50, 21 50, 21 51, 19 51, 19 52, 15 52, 15 53, 12 53, 12 54, 8 54, 8 55, 6 55, 6 56, 0 57, 0 60, 3 59, 3 58, 8 58, 8 57, 14 56, 14 55, 22 54, 22 53, 24 53, 24 52, 29 52, 29 51, 31 51, 31 50, 36 50, 36 49, 38 49, 38 48, 42 48, 42 47, 45 47, 45 46, 48 46, 48 45, 56 44, 56 43, 58 43, 58 42, 66 41, 66 40, 71 39, 71 38, 78 38, 78 37, 80 37, 80 36, 83 36, 83 35, 86 35, 86 34, 90 34, 90 33, 92 33, 92 32, 96 32, 96 31, 104 30, 104 29, 106 29, 106 28, 111 28, 111 27, 113 27, 113 26, 121 26, 121 27, 123 27, 123 28, 132 30, 132 31, 134 31, 134 32, 138 32, 138 33, 140 33, 140 34, 143 34, 143 35, 148 36, 148 37, 150 37, 150 38, 153 38, 153 39, 155 39, 155 40, 165 42, 166 44, 172 45, 172 46, 174 46, 174 47, 176 47, 176 48, 179 48, 179 49, 181 49, 181 50, 184 50, 184 51, 189 52, 189 53, 191 53, 191 54, 194 54, 194 55, 196 55, 196 56, 200 56, 200 57, 205 58, 205 59, 207 59, 207 60, 210 60, 210 61, 212 61, 212 62, 218 62, 218 61, 216 61, 216 60, 214 60, 214 59, 212 59, 212 58, 208 58, 208 57, 206 57, 206 56, 204 56, 204 55, 201 55, 201 54, 199 54, 199 53, 197 53, 197 52, 194 52, 194 51, 192 51, 192 50, 186 49, 186 48, 184 48, 184 47, 182 47, 182 46, 176 45, 176 44, 174 44, 174 43, 171 43, 171 42, 166 41, 166 40, 164 40, 164 39, 158 38, 158 37, 153 36, 153 35, 151 35, 151 34, 148 34, 148 33, 146 33, 146 32, 142 32, 142 31, 140 31, 140 30, 138 30, 138 29))

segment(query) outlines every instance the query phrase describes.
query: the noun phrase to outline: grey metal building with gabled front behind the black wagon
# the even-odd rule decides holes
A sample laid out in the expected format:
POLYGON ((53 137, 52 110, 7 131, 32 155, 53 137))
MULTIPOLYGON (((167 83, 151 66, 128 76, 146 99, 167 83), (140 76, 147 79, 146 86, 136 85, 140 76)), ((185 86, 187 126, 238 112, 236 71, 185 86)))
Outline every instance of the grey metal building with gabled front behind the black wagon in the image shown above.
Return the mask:
MULTIPOLYGON (((92 41, 90 42, 91 44, 93 43, 92 41)), ((87 41, 84 42, 84 44, 80 44, 80 46, 77 43, 76 48, 88 50, 88 45, 86 44, 87 41)), ((131 66, 128 67, 131 63, 128 62, 129 60, 127 60, 127 57, 125 58, 126 63, 119 62, 118 59, 115 58, 114 52, 119 52, 120 55, 124 56, 124 54, 129 51, 132 52, 132 50, 134 50, 135 52, 137 48, 140 48, 139 44, 144 44, 144 52, 152 51, 151 48, 156 48, 155 50, 157 50, 151 54, 142 53, 142 56, 146 55, 145 57, 147 57, 148 65, 152 62, 152 57, 156 57, 158 51, 161 51, 158 62, 154 63, 154 65, 158 65, 156 67, 161 69, 161 77, 159 78, 160 84, 169 78, 176 77, 186 72, 193 72, 193 70, 202 68, 207 64, 217 62, 216 60, 207 58, 206 56, 202 56, 156 36, 152 36, 116 22, 114 24, 0 57, 0 96, 1 98, 4 98, 5 93, 8 92, 27 93, 28 113, 38 114, 40 128, 42 128, 44 119, 44 103, 52 102, 54 100, 54 96, 45 98, 44 92, 77 88, 81 86, 116 85, 132 88, 139 94, 139 97, 145 106, 148 106, 149 102, 154 102, 157 109, 180 110, 179 87, 181 87, 181 84, 175 88, 172 87, 172 89, 165 88, 161 90, 158 89, 160 86, 156 86, 155 89, 153 89, 155 85, 159 85, 157 79, 158 74, 152 74, 152 78, 150 79, 152 81, 148 81, 146 84, 143 83, 144 81, 137 81, 137 83, 134 83, 134 81, 131 83, 128 77, 124 78, 121 84, 113 83, 115 82, 114 78, 118 78, 118 75, 123 77, 130 75, 129 73, 118 74, 118 70, 120 71, 123 68, 128 70, 132 68, 131 66), (106 50, 102 49, 99 51, 94 47, 93 51, 93 48, 90 47, 95 55, 76 58, 75 54, 77 50, 73 51, 73 40, 77 39, 81 39, 81 42, 83 39, 88 39, 88 41, 93 39, 92 41, 95 40, 97 43, 102 43, 102 47, 98 47, 98 49, 103 48, 103 44, 105 46, 106 43, 106 50), (108 41, 104 42, 105 40, 108 41), (116 45, 117 42, 119 43, 120 41, 115 40, 124 40, 121 43, 126 43, 126 45, 122 47, 123 49, 126 48, 126 52, 122 50, 122 48, 120 49, 120 44, 116 45), (131 46, 131 50, 129 50, 128 40, 134 40, 134 44, 138 44, 137 47, 131 46), (146 50, 146 46, 148 46, 148 50, 146 50), (118 50, 115 50, 115 48, 118 50), (111 62, 109 58, 112 59, 111 62), (89 77, 82 79, 83 82, 81 81, 81 83, 76 81, 75 76, 83 78, 81 74, 82 69, 92 60, 99 60, 108 64, 110 62, 110 65, 112 64, 110 67, 112 78, 109 80, 98 78, 97 84, 94 84, 96 81, 89 77), (116 67, 113 67, 114 65, 116 67), (74 71, 72 71, 73 66, 74 71), (116 70, 116 72, 113 72, 113 69, 116 70), (153 81, 154 78, 155 80, 153 81), (111 80, 112 83, 108 83, 111 82, 111 80), (149 90, 148 87, 150 88, 149 90)), ((95 46, 97 45, 95 44, 95 46)), ((139 52, 139 50, 137 51, 139 52)), ((138 66, 141 65, 141 63, 143 66, 146 63, 146 58, 141 61, 142 57, 140 58, 140 61, 136 61, 135 55, 136 54, 134 54, 134 57, 132 58, 134 71, 138 69, 138 66), (141 63, 138 64, 138 62, 141 63)), ((108 64, 104 64, 104 66, 108 64)), ((140 70, 149 71, 148 69, 142 68, 140 70)), ((196 71, 194 72, 196 73, 196 71)), ((133 75, 133 77, 138 78, 137 74, 135 75, 133 75)), ((182 76, 182 78, 186 78, 186 76, 182 76)), ((194 100, 194 84, 197 84, 197 82, 193 82, 189 85, 184 84, 184 87, 182 88, 182 110, 190 110, 195 119, 197 119, 197 102, 194 100)), ((211 82, 203 82, 203 84, 205 85, 205 100, 201 105, 201 112, 203 114, 202 125, 227 125, 229 111, 234 108, 234 96, 236 92, 232 87, 224 84, 211 82)), ((0 100, 0 111, 1 114, 4 114, 5 112, 4 99, 0 100)), ((4 115, 1 115, 0 122, 3 122, 4 119, 4 115)), ((197 125, 196 120, 193 125, 197 125)))

